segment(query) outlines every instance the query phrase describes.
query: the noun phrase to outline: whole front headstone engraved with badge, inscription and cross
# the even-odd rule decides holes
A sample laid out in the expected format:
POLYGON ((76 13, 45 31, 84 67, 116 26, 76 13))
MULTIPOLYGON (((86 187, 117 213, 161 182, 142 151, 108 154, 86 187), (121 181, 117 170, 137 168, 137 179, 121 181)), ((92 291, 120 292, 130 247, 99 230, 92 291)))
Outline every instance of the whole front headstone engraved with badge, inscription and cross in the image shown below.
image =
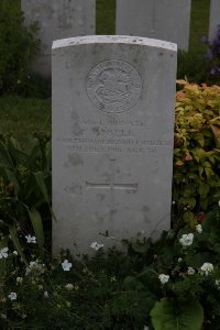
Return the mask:
MULTIPOLYGON (((53 44, 53 250, 169 228, 176 44, 88 36, 53 44)), ((116 243, 113 241, 113 243, 116 243)))

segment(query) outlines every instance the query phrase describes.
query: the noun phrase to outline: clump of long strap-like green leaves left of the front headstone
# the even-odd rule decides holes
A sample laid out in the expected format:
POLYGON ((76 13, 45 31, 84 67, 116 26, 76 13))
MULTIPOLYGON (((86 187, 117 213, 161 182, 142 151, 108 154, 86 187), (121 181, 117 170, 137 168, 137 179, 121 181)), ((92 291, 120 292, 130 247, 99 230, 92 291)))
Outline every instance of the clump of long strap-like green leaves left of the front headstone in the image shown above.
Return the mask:
MULTIPOLYGON (((4 234, 9 231, 13 243, 25 256, 18 233, 34 232, 41 254, 44 229, 41 217, 51 205, 51 139, 44 133, 30 140, 28 152, 21 151, 11 136, 0 139, 0 219, 4 234), (19 230, 18 230, 19 229, 19 230)), ((48 213, 48 211, 47 211, 48 213)), ((50 219, 51 223, 51 219, 50 219)), ((44 223, 45 226, 46 223, 44 223)))

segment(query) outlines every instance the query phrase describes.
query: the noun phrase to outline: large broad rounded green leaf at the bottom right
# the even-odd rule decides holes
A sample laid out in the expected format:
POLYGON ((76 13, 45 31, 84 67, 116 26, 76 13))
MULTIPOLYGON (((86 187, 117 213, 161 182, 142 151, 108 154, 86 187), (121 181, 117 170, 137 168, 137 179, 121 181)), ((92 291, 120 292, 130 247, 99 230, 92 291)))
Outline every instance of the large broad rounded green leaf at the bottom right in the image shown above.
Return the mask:
POLYGON ((204 309, 198 300, 163 298, 151 310, 154 330, 201 330, 204 309))

